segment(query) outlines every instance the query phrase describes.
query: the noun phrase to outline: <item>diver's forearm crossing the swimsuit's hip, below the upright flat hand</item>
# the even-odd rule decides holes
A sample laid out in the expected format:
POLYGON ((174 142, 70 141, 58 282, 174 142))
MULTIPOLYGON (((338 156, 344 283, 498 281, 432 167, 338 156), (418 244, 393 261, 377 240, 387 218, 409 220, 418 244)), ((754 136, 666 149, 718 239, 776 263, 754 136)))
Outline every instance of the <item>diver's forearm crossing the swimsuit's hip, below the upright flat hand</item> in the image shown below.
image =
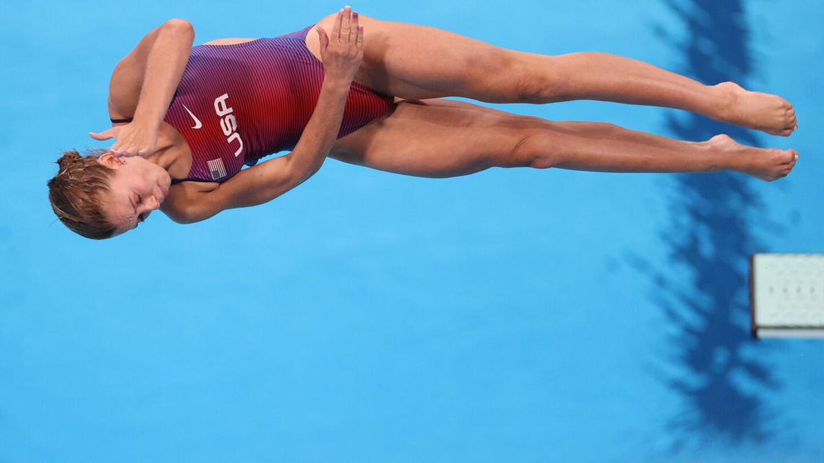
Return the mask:
POLYGON ((289 168, 298 184, 314 175, 323 165, 335 143, 344 119, 344 106, 352 82, 326 78, 315 111, 303 129, 293 151, 288 154, 289 168))

